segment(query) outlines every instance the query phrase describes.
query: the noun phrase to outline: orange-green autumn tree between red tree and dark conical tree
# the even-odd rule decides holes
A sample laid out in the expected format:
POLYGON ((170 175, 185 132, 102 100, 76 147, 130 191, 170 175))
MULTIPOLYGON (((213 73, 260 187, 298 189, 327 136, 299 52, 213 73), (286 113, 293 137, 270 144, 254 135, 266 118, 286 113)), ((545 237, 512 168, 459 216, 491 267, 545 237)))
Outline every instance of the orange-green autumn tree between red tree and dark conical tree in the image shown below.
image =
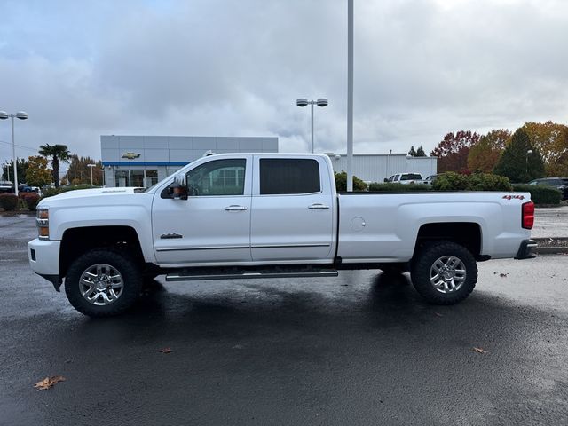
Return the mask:
POLYGON ((479 142, 469 148, 468 169, 491 173, 510 138, 511 132, 506 129, 491 130, 479 138, 479 142))

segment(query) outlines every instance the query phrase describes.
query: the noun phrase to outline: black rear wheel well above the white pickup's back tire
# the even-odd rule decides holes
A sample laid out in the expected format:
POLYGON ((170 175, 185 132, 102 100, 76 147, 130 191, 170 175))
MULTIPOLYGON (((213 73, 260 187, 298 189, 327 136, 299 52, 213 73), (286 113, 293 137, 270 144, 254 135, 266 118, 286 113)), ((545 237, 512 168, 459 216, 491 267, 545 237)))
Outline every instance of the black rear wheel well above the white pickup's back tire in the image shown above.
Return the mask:
POLYGON ((481 228, 470 222, 426 224, 420 227, 414 253, 428 241, 454 241, 478 257, 481 253, 481 228))

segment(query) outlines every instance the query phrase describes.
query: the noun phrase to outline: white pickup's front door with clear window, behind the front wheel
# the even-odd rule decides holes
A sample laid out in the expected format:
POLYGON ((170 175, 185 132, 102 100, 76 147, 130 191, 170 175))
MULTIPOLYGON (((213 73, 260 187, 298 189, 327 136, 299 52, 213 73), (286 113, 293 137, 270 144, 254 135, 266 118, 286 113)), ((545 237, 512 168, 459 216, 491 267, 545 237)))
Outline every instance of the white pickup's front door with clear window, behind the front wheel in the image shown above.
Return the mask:
POLYGON ((155 194, 152 224, 159 264, 251 260, 251 164, 252 155, 199 161, 186 173, 187 185, 195 189, 187 200, 174 200, 167 190, 155 194))

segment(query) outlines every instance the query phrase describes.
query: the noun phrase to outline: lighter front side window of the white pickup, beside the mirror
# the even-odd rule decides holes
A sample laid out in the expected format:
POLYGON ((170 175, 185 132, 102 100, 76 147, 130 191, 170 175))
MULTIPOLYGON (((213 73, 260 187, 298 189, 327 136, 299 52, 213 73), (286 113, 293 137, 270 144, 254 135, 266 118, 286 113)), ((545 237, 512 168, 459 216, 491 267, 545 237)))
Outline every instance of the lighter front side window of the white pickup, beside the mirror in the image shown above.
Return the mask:
POLYGON ((246 164, 244 158, 203 163, 187 173, 187 186, 198 196, 242 195, 246 164))

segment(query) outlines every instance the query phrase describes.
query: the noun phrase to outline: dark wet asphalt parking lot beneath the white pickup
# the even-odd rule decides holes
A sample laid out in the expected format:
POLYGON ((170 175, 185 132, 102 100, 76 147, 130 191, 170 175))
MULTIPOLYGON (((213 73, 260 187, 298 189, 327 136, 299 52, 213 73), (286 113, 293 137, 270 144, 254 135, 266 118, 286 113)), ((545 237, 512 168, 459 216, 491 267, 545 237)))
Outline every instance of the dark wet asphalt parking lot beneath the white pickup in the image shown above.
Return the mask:
POLYGON ((95 320, 28 268, 35 234, 0 217, 2 425, 568 424, 568 256, 479 264, 449 307, 407 274, 159 278, 95 320))

